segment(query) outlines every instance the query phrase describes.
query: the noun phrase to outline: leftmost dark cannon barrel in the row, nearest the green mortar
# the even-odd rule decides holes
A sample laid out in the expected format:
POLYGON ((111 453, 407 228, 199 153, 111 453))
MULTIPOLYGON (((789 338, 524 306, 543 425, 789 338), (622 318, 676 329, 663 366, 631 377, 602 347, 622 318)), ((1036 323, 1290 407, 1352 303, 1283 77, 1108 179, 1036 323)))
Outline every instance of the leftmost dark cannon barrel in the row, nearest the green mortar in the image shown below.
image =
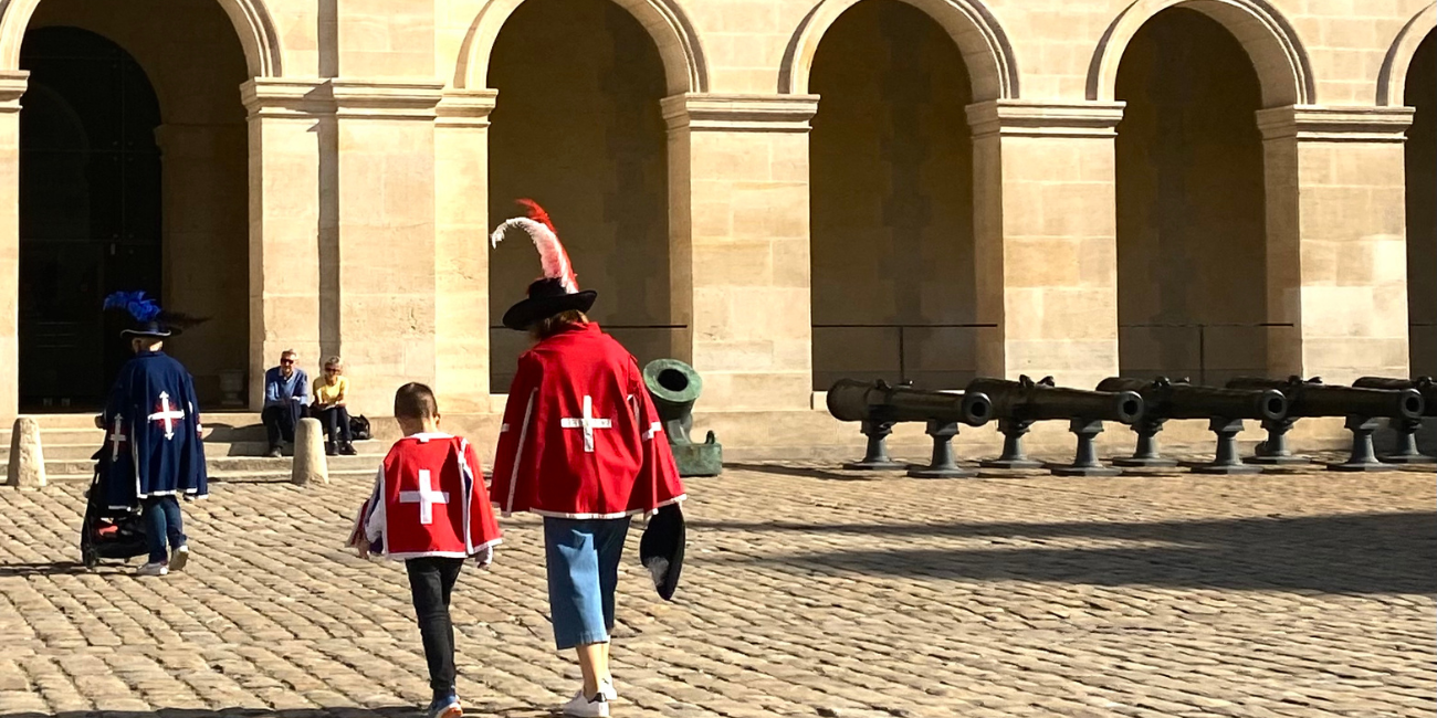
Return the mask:
POLYGON ((828 389, 828 412, 839 421, 934 421, 981 426, 993 416, 989 398, 976 392, 938 392, 887 382, 839 379, 828 389))

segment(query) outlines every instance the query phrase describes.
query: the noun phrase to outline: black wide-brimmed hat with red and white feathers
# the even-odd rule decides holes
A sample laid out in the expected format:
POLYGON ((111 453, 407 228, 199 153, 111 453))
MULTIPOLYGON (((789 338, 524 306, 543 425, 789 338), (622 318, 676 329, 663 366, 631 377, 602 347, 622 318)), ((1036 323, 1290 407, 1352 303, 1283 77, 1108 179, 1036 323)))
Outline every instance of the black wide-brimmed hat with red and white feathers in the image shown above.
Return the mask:
POLYGON ((569 253, 559 243, 559 231, 549 221, 549 213, 543 211, 533 200, 519 200, 525 208, 525 217, 504 220, 499 228, 490 234, 490 247, 497 247, 504 238, 504 231, 510 227, 525 230, 539 250, 539 263, 543 266, 543 277, 529 284, 529 296, 504 312, 504 326, 527 330, 535 322, 542 322, 562 312, 588 312, 599 293, 579 290, 579 277, 569 263, 569 253))

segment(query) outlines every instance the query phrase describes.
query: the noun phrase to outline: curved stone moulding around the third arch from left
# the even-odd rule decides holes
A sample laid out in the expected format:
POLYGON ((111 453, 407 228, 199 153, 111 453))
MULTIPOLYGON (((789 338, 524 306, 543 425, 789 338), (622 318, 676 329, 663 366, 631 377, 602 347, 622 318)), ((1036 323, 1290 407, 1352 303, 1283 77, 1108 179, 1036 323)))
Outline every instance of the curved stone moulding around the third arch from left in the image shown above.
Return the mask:
MULTIPOLYGON (((799 24, 779 67, 779 93, 809 92, 813 55, 839 16, 862 0, 822 0, 799 24)), ((904 0, 953 37, 969 70, 973 102, 1019 96, 1017 57, 1007 33, 981 0, 904 0)))

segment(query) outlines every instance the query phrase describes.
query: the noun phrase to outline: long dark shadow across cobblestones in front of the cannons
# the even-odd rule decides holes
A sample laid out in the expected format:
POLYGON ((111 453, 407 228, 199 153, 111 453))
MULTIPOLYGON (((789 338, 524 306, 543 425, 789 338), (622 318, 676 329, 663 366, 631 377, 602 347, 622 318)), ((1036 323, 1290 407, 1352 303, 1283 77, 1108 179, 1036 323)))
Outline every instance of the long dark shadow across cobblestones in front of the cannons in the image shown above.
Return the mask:
POLYGON ((865 547, 743 559, 805 570, 1095 586, 1437 595, 1437 572, 1433 570, 1437 563, 1437 513, 1048 524, 736 524, 690 520, 688 527, 700 533, 698 541, 707 530, 987 538, 983 541, 986 546, 974 549, 865 547), (1052 538, 1161 541, 1170 546, 1040 546, 1052 538))

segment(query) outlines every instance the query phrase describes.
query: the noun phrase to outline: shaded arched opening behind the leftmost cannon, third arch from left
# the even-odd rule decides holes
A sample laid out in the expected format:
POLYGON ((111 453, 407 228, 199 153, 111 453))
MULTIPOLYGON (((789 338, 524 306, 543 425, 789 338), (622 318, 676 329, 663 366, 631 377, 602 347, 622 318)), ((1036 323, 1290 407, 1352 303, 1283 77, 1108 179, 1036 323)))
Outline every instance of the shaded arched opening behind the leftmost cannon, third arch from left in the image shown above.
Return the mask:
POLYGON ((864 0, 813 56, 813 388, 973 378, 973 142, 963 56, 898 0, 864 0))

